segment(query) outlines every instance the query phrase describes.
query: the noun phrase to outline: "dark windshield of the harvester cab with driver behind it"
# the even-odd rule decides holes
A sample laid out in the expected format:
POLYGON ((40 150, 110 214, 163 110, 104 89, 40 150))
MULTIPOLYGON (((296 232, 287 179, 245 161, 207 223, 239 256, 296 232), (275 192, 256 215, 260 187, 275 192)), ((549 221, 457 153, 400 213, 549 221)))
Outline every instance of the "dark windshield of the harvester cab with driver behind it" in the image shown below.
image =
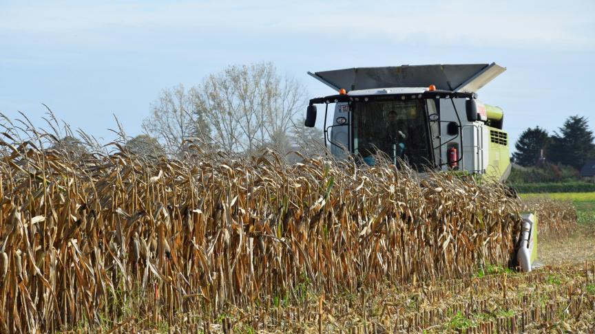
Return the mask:
POLYGON ((421 100, 354 103, 353 153, 372 165, 379 150, 423 169, 430 162, 425 112, 421 100))

